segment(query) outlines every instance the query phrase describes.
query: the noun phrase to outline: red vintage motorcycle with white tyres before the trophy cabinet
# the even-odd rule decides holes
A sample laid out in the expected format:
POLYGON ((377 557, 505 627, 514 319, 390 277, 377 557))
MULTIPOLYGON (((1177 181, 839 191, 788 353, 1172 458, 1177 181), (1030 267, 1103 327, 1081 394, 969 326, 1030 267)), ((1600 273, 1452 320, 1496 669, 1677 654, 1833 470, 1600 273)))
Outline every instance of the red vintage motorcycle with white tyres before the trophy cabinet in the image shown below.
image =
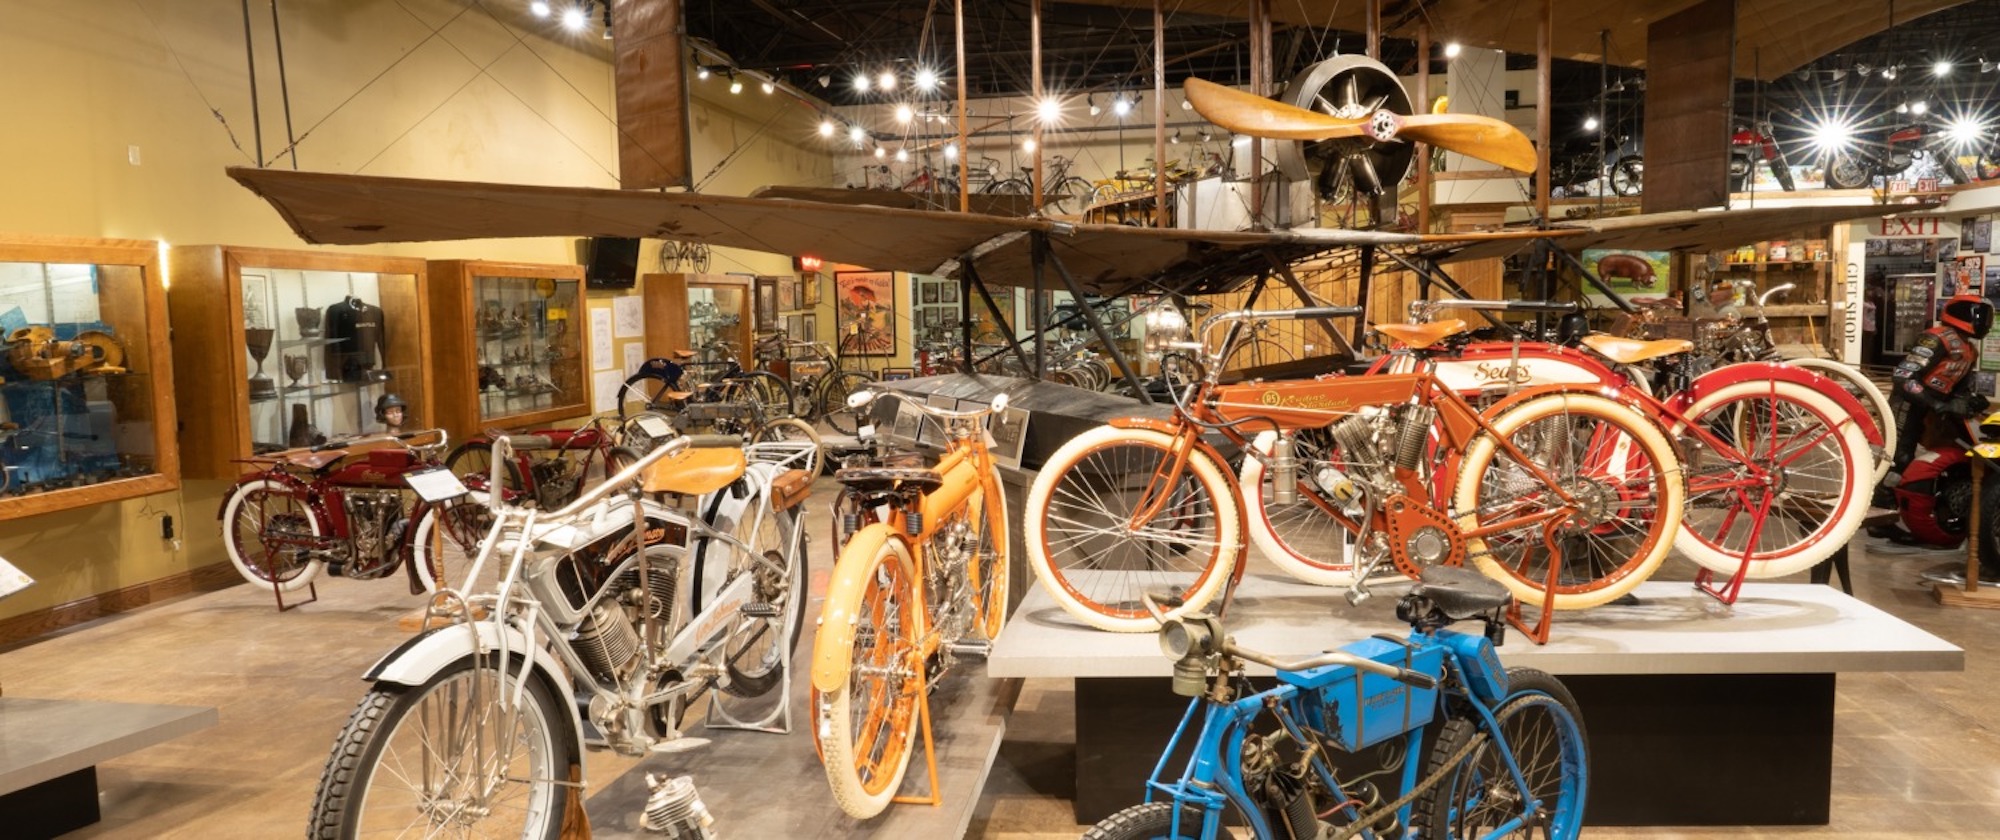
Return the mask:
MULTIPOLYGON (((408 476, 442 470, 444 430, 376 434, 242 460, 254 470, 222 502, 222 546, 236 572, 284 592, 324 568, 342 578, 406 570, 410 594, 436 592, 444 540, 478 540, 484 508, 430 504, 408 476), (464 510, 466 520, 458 520, 464 510)), ((466 554, 466 552, 452 552, 466 554)))

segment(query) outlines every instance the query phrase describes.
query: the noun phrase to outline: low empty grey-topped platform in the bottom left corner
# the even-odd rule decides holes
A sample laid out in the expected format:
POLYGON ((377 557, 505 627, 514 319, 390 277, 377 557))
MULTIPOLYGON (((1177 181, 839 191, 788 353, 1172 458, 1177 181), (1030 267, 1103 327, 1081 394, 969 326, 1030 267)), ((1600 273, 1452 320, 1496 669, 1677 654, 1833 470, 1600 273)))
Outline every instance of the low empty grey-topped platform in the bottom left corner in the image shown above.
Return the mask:
POLYGON ((34 840, 98 822, 98 764, 216 722, 214 706, 0 698, 0 826, 34 840))

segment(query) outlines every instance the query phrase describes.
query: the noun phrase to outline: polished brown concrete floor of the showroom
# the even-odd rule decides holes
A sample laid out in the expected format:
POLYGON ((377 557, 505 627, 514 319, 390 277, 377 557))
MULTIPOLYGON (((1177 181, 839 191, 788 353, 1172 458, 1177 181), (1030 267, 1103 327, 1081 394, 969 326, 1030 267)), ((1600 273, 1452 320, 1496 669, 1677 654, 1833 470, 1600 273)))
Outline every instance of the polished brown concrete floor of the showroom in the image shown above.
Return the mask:
MULTIPOLYGON (((832 566, 814 498, 814 592, 832 566)), ((1854 552, 1856 594, 1966 648, 1964 672, 1846 674, 1838 684, 1834 808, 1814 828, 1616 828, 1604 838, 2000 836, 2000 612, 1940 608, 1916 582, 1950 554, 1854 552)), ((1686 576, 1668 568, 1664 576, 1686 576)), ((1022 582, 1028 584, 1028 582, 1022 582)), ((0 688, 24 698, 202 704, 220 726, 100 768, 104 822, 74 838, 288 838, 304 832, 334 734, 360 674, 406 634, 418 606, 400 578, 330 580, 290 612, 236 586, 182 598, 0 652, 0 688)), ((816 606, 814 606, 816 610, 816 606)), ((1560 624, 1558 624, 1560 632, 1560 624)), ((976 666, 966 668, 966 676, 976 666)), ((1030 680, 988 780, 972 836, 1074 838, 1070 688, 1030 680)), ((632 762, 588 754, 592 784, 632 762)), ((1132 780, 1140 784, 1142 780, 1132 780)), ((788 798, 822 790, 772 792, 788 798)), ((902 806, 916 808, 916 806, 902 806)), ((1690 814, 1702 804, 1688 802, 1690 814)), ((718 826, 728 836, 728 826, 718 826)), ((6 828, 0 826, 0 836, 6 828)))

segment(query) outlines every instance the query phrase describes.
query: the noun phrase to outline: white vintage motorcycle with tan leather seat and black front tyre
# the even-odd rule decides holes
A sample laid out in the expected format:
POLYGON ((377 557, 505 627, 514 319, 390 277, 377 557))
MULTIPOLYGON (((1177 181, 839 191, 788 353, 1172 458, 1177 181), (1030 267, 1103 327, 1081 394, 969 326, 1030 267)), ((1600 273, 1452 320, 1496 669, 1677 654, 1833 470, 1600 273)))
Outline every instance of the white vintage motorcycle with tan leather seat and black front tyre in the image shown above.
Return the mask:
MULTIPOLYGON (((672 434, 650 420, 646 436, 672 434)), ((494 438, 490 486, 512 448, 494 438)), ((670 438, 556 512, 470 496, 444 470, 416 476, 428 500, 458 498, 490 524, 426 630, 364 676, 372 690, 326 760, 308 834, 554 840, 582 808, 580 706, 604 746, 672 752, 702 742, 682 716, 710 688, 782 690, 812 484, 792 464, 808 456, 670 438), (700 496, 698 516, 654 494, 700 496)))

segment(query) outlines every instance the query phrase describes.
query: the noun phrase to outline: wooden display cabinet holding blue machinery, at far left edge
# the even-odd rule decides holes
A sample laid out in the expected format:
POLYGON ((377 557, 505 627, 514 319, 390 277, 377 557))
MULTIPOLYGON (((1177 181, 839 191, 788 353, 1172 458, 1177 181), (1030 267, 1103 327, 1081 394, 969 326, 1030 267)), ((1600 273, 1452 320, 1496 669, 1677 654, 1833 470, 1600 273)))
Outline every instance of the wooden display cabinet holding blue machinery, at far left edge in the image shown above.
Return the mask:
POLYGON ((180 486, 160 244, 0 238, 0 520, 180 486))

